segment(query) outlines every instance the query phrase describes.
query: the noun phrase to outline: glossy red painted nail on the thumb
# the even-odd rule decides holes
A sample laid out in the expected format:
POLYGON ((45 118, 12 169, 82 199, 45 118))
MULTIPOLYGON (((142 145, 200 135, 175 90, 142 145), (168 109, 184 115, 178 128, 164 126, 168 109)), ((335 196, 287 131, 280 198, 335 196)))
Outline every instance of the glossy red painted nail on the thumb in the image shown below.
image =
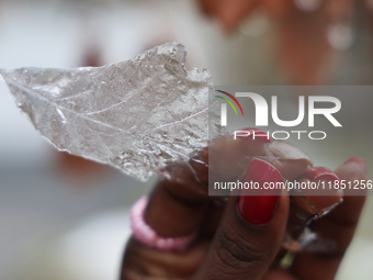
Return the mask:
POLYGON ((245 182, 257 184, 258 190, 244 189, 237 200, 240 216, 250 225, 263 226, 271 222, 279 202, 281 189, 264 189, 283 182, 278 169, 261 159, 253 159, 245 176, 245 182), (256 192, 258 191, 258 192, 256 192), (260 193, 260 195, 252 195, 260 193), (251 194, 251 195, 250 195, 251 194))

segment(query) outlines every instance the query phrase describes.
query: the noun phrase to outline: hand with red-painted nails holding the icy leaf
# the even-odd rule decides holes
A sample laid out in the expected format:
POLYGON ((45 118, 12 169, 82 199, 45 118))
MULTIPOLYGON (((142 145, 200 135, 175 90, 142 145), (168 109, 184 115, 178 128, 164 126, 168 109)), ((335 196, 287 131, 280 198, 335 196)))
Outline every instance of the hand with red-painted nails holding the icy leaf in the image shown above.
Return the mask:
MULTIPOLYGON (((260 137, 236 142, 223 138, 211 149, 224 146, 222 156, 229 157, 230 165, 235 166, 233 163, 242 154, 262 155, 264 142, 260 137)), ((205 149, 200 158, 207 163, 207 155, 208 150, 205 149)), ((363 161, 350 160, 341 165, 336 173, 341 180, 365 179, 365 168, 363 161)), ((197 238, 182 253, 158 250, 131 238, 121 279, 335 278, 352 239, 364 195, 344 197, 344 201, 330 214, 310 225, 320 236, 334 240, 337 244, 336 250, 323 255, 298 253, 292 266, 285 270, 279 267, 279 261, 286 253, 281 245, 289 217, 290 198, 230 197, 224 202, 207 194, 207 167, 194 166, 193 170, 190 165, 183 164, 163 170, 170 176, 165 176, 151 193, 145 221, 160 236, 184 236, 197 231, 197 238)), ((234 175, 230 166, 222 166, 218 171, 225 176, 239 176, 234 175)))

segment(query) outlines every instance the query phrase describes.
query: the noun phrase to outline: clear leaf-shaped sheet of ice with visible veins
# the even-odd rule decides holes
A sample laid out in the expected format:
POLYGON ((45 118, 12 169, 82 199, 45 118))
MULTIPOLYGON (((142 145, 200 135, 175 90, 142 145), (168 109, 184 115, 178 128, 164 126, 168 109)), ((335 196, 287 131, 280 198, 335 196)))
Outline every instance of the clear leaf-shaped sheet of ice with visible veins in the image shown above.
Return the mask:
POLYGON ((147 180, 207 145, 211 76, 187 71, 185 55, 184 46, 171 42, 103 67, 0 75, 56 148, 147 180))

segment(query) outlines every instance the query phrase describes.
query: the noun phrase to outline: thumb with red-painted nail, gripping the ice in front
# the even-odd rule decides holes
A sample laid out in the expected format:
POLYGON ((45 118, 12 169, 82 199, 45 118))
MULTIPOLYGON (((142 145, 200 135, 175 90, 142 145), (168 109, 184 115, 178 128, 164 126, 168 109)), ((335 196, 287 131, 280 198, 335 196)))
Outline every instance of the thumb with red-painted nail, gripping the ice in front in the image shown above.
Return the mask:
POLYGON ((240 197, 230 197, 196 279, 261 279, 280 249, 289 197, 264 188, 283 181, 282 176, 267 161, 253 159, 244 181, 258 182, 259 190, 244 189, 240 197))

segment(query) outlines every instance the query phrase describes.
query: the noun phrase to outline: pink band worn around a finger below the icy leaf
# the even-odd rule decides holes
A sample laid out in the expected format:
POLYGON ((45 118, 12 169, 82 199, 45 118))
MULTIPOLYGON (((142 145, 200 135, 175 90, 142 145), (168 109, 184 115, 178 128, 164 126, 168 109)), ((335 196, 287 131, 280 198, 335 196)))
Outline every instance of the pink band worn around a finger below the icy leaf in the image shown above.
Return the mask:
POLYGON ((131 210, 131 228, 134 237, 152 248, 159 250, 185 250, 195 239, 196 232, 180 237, 161 237, 159 236, 144 219, 144 212, 148 204, 148 198, 140 198, 131 210))

